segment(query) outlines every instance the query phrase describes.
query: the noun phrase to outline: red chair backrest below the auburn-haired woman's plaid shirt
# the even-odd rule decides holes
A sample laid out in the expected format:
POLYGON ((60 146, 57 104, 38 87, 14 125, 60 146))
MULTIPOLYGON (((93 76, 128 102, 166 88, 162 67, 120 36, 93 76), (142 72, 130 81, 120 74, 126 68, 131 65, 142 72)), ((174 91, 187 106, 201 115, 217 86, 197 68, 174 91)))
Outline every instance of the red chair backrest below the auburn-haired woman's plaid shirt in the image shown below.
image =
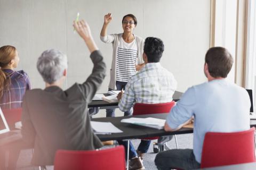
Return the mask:
POLYGON ((2 109, 2 111, 10 130, 14 130, 15 123, 21 121, 22 108, 2 109))

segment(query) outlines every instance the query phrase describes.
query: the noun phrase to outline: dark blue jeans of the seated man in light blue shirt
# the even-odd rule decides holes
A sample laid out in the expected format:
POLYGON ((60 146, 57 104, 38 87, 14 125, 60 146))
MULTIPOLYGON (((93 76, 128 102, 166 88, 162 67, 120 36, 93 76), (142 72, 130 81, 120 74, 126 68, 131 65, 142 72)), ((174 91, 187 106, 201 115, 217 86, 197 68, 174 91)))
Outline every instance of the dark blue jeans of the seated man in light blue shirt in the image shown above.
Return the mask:
POLYGON ((156 155, 155 164, 158 170, 200 168, 193 149, 171 149, 159 152, 156 155))

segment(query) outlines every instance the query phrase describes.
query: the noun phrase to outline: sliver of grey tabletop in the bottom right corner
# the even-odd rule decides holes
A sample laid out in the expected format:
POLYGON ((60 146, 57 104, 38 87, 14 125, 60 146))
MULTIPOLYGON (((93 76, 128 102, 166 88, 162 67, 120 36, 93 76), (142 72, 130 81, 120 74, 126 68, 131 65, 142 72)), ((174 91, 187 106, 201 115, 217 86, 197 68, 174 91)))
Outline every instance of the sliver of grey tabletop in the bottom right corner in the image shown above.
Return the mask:
MULTIPOLYGON (((237 165, 217 166, 212 168, 202 168, 202 170, 254 170, 256 169, 256 163, 246 163, 237 165)), ((199 169, 197 169, 199 170, 199 169)))

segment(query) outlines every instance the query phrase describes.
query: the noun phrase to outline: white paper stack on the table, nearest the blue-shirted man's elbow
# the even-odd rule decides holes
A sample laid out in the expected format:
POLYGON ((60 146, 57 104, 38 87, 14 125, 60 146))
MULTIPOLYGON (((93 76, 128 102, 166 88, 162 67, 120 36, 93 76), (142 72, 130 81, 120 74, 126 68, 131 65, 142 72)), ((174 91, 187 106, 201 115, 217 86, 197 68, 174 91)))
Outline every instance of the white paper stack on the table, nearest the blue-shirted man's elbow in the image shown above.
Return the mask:
POLYGON ((141 126, 146 126, 149 128, 155 128, 155 129, 164 129, 165 120, 159 119, 159 118, 153 118, 153 117, 147 117, 147 118, 125 118, 121 120, 123 123, 131 123, 141 126))

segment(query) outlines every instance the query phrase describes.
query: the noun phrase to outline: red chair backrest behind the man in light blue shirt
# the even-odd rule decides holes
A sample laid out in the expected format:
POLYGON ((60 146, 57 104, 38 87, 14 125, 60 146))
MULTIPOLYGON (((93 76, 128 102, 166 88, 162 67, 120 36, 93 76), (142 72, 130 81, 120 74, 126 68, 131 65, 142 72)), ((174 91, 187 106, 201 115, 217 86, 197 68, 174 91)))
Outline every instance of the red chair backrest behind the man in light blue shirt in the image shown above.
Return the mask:
POLYGON ((254 131, 205 133, 201 168, 255 162, 254 131))

